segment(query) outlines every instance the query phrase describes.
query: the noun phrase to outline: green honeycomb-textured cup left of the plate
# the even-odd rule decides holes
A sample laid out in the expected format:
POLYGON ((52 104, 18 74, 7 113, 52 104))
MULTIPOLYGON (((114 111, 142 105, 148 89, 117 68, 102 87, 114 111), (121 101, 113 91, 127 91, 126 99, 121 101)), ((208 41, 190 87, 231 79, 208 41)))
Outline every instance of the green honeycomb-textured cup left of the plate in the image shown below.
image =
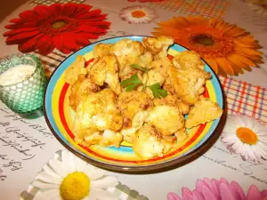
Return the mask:
POLYGON ((0 84, 0 99, 8 108, 22 117, 36 118, 43 116, 43 98, 47 79, 44 75, 44 68, 36 56, 14 54, 5 57, 0 61, 0 74, 21 65, 35 67, 33 74, 16 84, 0 84))

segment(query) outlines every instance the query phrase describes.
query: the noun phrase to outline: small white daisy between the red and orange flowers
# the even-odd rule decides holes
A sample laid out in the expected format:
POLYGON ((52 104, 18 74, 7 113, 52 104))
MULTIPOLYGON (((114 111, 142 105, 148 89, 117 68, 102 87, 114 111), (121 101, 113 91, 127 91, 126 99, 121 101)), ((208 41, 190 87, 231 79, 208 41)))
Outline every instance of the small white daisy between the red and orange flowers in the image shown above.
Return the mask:
POLYGON ((119 16, 130 24, 146 24, 158 17, 153 9, 142 5, 127 6, 121 10, 119 16))

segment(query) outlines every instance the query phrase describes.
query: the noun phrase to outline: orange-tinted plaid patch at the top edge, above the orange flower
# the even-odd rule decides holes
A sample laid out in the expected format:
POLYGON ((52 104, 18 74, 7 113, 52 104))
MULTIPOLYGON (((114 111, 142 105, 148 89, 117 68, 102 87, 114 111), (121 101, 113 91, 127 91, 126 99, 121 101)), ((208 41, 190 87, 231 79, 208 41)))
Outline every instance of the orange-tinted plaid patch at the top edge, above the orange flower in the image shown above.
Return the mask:
POLYGON ((229 3, 225 0, 166 0, 150 3, 149 6, 180 12, 184 15, 223 19, 229 3))

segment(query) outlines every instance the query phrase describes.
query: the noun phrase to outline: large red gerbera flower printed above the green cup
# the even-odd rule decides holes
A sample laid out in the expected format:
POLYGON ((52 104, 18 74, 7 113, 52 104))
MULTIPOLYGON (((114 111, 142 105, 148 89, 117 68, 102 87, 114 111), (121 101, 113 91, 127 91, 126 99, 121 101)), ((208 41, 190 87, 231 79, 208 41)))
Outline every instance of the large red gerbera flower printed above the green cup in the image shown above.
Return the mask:
POLYGON ((5 28, 12 29, 4 36, 6 44, 19 44, 20 52, 76 52, 90 44, 90 39, 103 36, 110 22, 101 10, 91 10, 87 4, 38 5, 31 11, 20 13, 5 28))

